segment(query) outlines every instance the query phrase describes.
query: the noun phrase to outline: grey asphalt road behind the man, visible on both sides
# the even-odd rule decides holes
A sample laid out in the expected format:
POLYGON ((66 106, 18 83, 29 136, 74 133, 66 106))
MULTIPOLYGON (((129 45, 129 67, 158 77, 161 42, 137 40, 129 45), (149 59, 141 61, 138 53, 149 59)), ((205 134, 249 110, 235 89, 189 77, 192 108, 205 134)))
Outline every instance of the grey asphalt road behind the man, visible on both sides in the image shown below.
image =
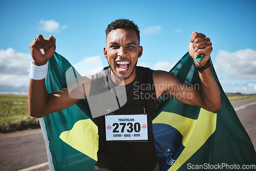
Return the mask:
MULTIPOLYGON (((256 99, 231 103, 256 147, 256 99)), ((48 170, 44 138, 40 129, 0 134, 0 170, 48 170)))

